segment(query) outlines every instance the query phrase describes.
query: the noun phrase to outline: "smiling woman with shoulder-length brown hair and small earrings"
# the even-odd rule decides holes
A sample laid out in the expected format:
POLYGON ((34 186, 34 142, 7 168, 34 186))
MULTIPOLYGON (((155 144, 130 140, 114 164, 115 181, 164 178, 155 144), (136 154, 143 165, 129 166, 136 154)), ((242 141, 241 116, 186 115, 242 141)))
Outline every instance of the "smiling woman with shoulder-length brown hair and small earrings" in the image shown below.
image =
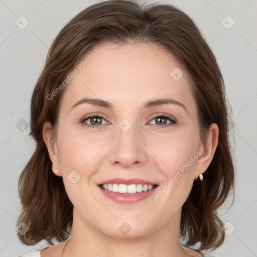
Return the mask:
POLYGON ((212 256, 234 190, 227 117, 216 59, 185 13, 121 0, 83 10, 32 96, 18 235, 52 246, 23 256, 212 256))

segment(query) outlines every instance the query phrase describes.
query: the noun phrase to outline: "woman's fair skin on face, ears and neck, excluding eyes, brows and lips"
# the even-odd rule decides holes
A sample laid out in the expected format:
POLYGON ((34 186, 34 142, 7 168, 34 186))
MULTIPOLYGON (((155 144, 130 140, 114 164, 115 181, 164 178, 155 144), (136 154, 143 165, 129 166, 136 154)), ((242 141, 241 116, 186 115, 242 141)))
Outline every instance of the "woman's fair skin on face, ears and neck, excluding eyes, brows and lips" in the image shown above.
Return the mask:
MULTIPOLYGON (((218 126, 211 124, 204 145, 186 71, 160 46, 105 43, 97 49, 99 53, 66 88, 57 136, 53 137, 49 122, 43 127, 53 172, 63 177, 74 205, 72 235, 63 256, 201 256, 181 246, 180 217, 193 181, 213 158, 218 126), (175 67, 184 73, 178 81, 170 76, 175 67), (89 103, 71 109, 84 97, 106 100, 113 109, 89 103), (143 108, 148 100, 167 97, 183 103, 187 110, 176 104, 143 108), (99 121, 101 127, 81 124, 83 117, 96 113, 104 116, 99 121), (154 118, 162 114, 171 115, 177 123, 163 127, 169 119, 158 123, 154 118), (132 124, 127 132, 118 126, 124 118, 132 124), (161 188, 197 152, 201 157, 155 203, 147 198, 118 204, 96 185, 115 177, 136 177, 161 188), (72 170, 80 175, 75 184, 67 178, 72 170), (132 227, 126 235, 118 229, 123 222, 132 227)), ((90 118, 85 122, 97 124, 90 123, 90 118)), ((64 243, 51 246, 41 256, 61 256, 63 247, 64 243)))

